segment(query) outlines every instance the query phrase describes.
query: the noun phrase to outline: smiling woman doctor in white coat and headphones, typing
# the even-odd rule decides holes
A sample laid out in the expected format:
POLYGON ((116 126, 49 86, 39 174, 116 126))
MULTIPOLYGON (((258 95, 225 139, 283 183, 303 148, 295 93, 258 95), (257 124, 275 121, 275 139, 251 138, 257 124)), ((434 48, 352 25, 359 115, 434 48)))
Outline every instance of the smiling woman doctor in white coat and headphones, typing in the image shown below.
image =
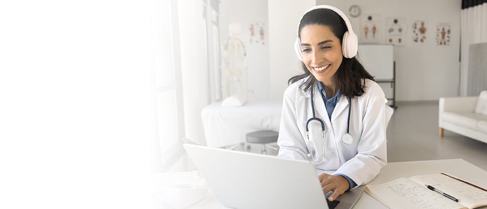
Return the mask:
POLYGON ((354 57, 357 36, 335 7, 301 18, 295 43, 304 73, 284 92, 278 156, 310 160, 329 200, 366 184, 387 163, 385 96, 354 57))

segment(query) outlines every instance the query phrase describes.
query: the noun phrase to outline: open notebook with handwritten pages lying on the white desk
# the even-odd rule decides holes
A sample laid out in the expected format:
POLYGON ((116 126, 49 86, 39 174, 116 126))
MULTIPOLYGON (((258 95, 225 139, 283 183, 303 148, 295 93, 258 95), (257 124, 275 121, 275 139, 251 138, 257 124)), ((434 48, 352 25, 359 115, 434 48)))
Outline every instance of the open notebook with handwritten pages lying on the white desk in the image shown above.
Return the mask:
POLYGON ((487 205, 487 191, 453 178, 451 174, 431 174, 399 178, 378 185, 367 185, 365 192, 389 208, 475 208, 487 205), (431 185, 458 199, 453 201, 426 187, 431 185))

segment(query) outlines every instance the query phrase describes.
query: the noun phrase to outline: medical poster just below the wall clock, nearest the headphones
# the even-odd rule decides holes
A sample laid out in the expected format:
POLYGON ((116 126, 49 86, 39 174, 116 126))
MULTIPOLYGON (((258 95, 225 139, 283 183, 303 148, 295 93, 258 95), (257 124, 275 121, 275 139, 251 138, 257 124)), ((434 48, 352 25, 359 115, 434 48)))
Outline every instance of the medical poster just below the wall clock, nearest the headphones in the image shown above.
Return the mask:
POLYGON ((360 28, 355 33, 360 37, 359 44, 378 44, 380 36, 380 15, 363 15, 360 17, 360 28))

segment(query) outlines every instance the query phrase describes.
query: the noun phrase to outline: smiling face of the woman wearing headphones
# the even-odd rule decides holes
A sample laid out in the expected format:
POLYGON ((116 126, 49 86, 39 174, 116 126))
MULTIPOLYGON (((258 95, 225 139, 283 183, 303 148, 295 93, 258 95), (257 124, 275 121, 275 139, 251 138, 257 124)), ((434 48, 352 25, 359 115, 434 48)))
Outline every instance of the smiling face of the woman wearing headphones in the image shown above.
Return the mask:
POLYGON ((306 68, 323 84, 334 85, 333 75, 343 60, 340 39, 324 25, 303 27, 300 38, 306 68))

